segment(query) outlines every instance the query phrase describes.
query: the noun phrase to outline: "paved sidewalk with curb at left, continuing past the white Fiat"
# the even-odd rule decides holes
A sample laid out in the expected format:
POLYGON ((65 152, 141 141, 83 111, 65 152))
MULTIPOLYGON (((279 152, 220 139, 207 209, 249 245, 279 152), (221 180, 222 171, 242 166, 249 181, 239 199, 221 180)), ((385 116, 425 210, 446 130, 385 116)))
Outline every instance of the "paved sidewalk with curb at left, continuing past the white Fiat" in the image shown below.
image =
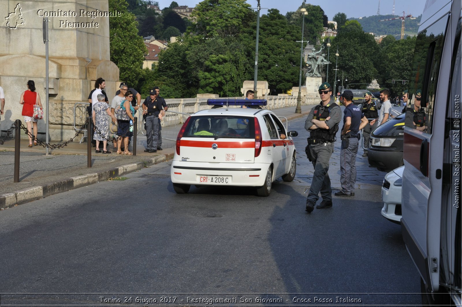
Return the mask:
MULTIPOLYGON (((292 120, 306 116, 313 105, 303 105, 302 113, 295 107, 272 110, 277 116, 292 120)), ((182 124, 162 128, 163 150, 145 153, 146 136, 137 135, 136 156, 116 154, 95 154, 91 147, 91 168, 87 167, 87 143, 70 142, 66 147, 50 149, 45 155, 42 146, 27 147, 27 139, 21 140, 19 182, 14 183, 14 139, 0 145, 0 209, 28 203, 53 194, 94 184, 108 178, 120 177, 143 167, 158 164, 173 158, 176 135, 182 124)), ((289 126, 290 130, 290 126, 289 126)), ((38 136, 39 140, 41 136, 38 136)), ((50 141, 51 144, 57 142, 50 141)), ((101 144, 102 146, 102 144, 101 144)), ((103 150, 103 147, 100 147, 103 150)), ((112 144, 108 144, 112 151, 112 144)))

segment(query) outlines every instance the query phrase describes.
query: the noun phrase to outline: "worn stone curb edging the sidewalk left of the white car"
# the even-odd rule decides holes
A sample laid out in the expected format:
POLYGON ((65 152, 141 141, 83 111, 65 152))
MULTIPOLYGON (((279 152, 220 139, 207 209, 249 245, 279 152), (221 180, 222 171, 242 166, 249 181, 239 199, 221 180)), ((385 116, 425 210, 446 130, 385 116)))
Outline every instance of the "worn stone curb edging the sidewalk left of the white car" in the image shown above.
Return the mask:
POLYGON ((104 181, 109 178, 128 174, 130 172, 139 171, 145 166, 158 164, 167 160, 171 160, 172 158, 173 154, 161 154, 154 156, 153 158, 146 161, 119 166, 108 171, 88 173, 78 177, 67 178, 59 182, 34 186, 25 190, 18 190, 16 192, 5 193, 0 195, 0 210, 14 207, 23 203, 29 203, 31 201, 50 195, 66 192, 68 190, 77 189, 89 184, 95 184, 98 181, 104 181))

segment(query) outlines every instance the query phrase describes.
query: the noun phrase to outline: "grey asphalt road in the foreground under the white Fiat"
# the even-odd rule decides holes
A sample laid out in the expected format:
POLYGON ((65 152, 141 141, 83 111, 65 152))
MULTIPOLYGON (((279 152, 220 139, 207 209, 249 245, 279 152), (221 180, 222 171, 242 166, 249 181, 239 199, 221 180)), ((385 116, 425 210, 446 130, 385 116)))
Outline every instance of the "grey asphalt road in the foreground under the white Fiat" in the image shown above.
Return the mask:
POLYGON ((165 162, 1 211, 2 304, 420 303, 401 228, 380 215, 380 186, 307 214, 306 173, 268 197, 233 187, 178 195, 169 173, 165 162))

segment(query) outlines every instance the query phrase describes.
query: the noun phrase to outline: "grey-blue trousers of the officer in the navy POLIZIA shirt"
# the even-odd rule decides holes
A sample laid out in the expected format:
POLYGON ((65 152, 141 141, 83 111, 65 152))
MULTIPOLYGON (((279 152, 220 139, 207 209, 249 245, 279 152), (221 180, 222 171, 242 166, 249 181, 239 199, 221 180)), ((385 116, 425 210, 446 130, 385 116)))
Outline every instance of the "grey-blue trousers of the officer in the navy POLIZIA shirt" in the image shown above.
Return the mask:
POLYGON ((356 154, 358 153, 358 139, 352 137, 342 141, 340 149, 340 185, 345 194, 354 192, 356 183, 356 154), (348 145, 345 144, 348 141, 348 145))

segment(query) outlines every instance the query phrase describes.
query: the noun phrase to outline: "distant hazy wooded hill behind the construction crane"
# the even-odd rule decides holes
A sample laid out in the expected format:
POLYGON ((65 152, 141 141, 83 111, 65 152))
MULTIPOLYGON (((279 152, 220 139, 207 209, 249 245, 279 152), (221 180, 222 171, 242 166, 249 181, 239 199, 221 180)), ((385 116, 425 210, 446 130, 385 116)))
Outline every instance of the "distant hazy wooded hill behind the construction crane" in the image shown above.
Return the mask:
MULTIPOLYGON (((373 32, 376 35, 393 35, 396 38, 401 36, 401 19, 380 21, 383 19, 397 18, 400 15, 373 15, 369 17, 351 18, 358 20, 365 32, 373 32)), ((402 16, 402 15, 401 15, 402 16)), ((419 15, 416 19, 406 18, 404 21, 405 35, 415 35, 419 29, 420 18, 419 15)))

